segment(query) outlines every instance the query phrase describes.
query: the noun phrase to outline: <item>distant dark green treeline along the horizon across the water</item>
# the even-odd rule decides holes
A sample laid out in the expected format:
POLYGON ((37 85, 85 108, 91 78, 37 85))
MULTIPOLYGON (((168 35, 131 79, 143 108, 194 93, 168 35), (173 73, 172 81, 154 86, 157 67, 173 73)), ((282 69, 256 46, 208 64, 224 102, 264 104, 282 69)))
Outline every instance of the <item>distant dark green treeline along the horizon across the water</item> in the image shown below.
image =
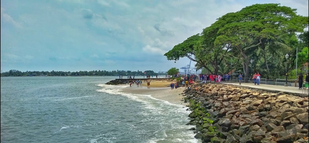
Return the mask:
POLYGON ((144 75, 166 75, 166 73, 155 73, 154 71, 18 71, 10 70, 1 73, 3 76, 144 76, 144 75), (144 73, 146 72, 146 74, 144 73))

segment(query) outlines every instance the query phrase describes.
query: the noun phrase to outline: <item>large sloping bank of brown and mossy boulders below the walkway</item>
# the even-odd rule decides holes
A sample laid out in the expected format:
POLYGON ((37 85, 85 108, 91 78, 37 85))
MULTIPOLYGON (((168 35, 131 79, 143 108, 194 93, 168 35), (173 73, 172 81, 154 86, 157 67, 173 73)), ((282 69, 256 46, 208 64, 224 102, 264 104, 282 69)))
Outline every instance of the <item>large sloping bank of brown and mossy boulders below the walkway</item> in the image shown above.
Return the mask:
POLYGON ((184 90, 203 143, 308 143, 308 98, 239 88, 195 84, 184 90))

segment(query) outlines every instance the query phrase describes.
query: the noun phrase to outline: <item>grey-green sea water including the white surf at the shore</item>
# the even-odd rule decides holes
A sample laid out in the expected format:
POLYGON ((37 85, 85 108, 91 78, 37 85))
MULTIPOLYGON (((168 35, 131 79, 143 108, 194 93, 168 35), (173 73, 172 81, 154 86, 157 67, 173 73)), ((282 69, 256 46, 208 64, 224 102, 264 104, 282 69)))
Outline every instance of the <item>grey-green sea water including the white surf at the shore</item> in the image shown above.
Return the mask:
POLYGON ((200 142, 187 108, 104 84, 115 78, 1 77, 1 143, 200 142))

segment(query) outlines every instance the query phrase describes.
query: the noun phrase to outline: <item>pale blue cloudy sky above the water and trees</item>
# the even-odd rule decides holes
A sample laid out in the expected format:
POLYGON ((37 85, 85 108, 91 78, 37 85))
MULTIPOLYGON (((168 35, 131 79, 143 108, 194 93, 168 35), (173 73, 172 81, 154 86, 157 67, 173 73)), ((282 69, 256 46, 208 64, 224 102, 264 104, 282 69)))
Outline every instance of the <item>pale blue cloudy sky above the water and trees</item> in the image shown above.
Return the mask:
POLYGON ((184 67, 189 59, 175 63, 164 53, 256 3, 281 3, 308 16, 308 0, 1 0, 1 70, 184 67))

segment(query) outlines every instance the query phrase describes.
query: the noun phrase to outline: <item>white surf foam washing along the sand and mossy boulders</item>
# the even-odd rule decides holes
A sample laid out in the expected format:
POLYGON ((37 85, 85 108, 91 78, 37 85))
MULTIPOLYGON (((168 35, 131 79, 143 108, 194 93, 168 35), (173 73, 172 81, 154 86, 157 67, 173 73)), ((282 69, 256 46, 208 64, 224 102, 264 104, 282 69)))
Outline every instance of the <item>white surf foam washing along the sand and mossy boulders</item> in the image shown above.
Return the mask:
MULTIPOLYGON (((166 130, 159 131, 160 135, 148 139, 146 142, 148 143, 157 143, 159 141, 167 141, 167 142, 180 142, 180 143, 197 143, 200 140, 194 138, 195 134, 188 129, 193 126, 184 125, 189 122, 187 115, 191 111, 186 111, 187 108, 183 108, 183 105, 171 104, 165 100, 159 100, 151 95, 140 95, 140 94, 131 94, 121 92, 121 88, 126 88, 128 86, 115 86, 115 85, 106 85, 99 84, 97 86, 103 87, 102 89, 98 89, 99 92, 105 92, 112 95, 121 95, 127 97, 129 100, 137 101, 142 103, 142 112, 143 116, 147 116, 149 118, 143 118, 141 122, 157 122, 158 126, 169 129, 169 133, 166 130), (185 115, 185 116, 184 116, 185 115), (175 117, 177 116, 177 117, 175 117), (184 122, 183 124, 180 122, 184 122), (164 121, 164 122, 163 122, 164 121), (180 123, 179 123, 180 122, 180 123), (179 123, 180 125, 175 125, 175 123, 179 123), (174 133, 173 130, 179 130, 179 133, 174 133), (160 137, 161 136, 161 137, 160 137)), ((139 124, 139 123, 137 123, 139 124)), ((135 129, 134 125, 131 125, 131 129, 135 129)), ((138 129, 145 132, 144 129, 138 129)))

